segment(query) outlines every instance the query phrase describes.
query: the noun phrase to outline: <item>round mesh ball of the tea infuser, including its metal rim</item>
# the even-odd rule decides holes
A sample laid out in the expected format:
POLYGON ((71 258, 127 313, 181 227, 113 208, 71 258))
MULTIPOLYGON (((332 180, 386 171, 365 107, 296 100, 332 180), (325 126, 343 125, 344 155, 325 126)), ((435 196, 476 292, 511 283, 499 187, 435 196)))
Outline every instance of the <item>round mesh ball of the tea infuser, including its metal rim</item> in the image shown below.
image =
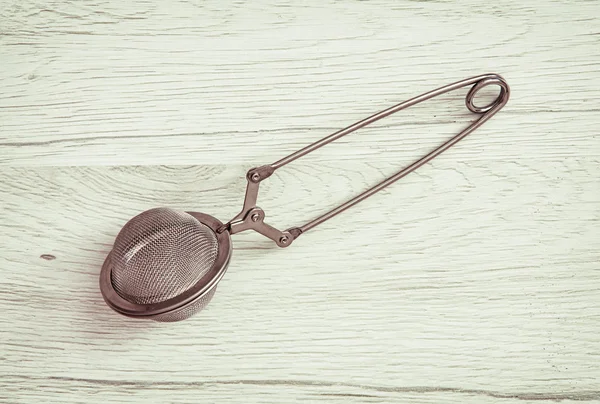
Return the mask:
POLYGON ((184 320, 215 293, 231 256, 222 223, 168 208, 145 211, 121 229, 101 289, 115 310, 156 321, 184 320))

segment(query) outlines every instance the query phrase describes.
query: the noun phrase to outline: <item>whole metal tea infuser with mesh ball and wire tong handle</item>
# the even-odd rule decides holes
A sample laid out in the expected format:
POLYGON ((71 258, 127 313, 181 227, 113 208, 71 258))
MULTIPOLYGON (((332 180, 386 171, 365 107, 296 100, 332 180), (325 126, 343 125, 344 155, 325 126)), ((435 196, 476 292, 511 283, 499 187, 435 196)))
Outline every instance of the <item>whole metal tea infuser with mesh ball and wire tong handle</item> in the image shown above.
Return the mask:
POLYGON ((156 208, 131 219, 117 235, 100 275, 100 290, 106 303, 130 317, 156 321, 184 320, 203 309, 223 277, 231 257, 231 234, 254 230, 288 247, 302 233, 343 212, 386 186, 416 170, 473 132, 508 101, 510 90, 504 79, 486 74, 459 81, 394 105, 329 135, 270 165, 251 169, 246 178, 242 211, 223 224, 212 216, 156 208), (475 94, 488 85, 500 87, 497 98, 485 107, 474 104, 475 94), (265 213, 256 206, 260 182, 278 168, 342 136, 437 95, 472 86, 466 106, 481 116, 470 126, 413 164, 385 179, 337 208, 301 227, 280 231, 264 222, 265 213))

